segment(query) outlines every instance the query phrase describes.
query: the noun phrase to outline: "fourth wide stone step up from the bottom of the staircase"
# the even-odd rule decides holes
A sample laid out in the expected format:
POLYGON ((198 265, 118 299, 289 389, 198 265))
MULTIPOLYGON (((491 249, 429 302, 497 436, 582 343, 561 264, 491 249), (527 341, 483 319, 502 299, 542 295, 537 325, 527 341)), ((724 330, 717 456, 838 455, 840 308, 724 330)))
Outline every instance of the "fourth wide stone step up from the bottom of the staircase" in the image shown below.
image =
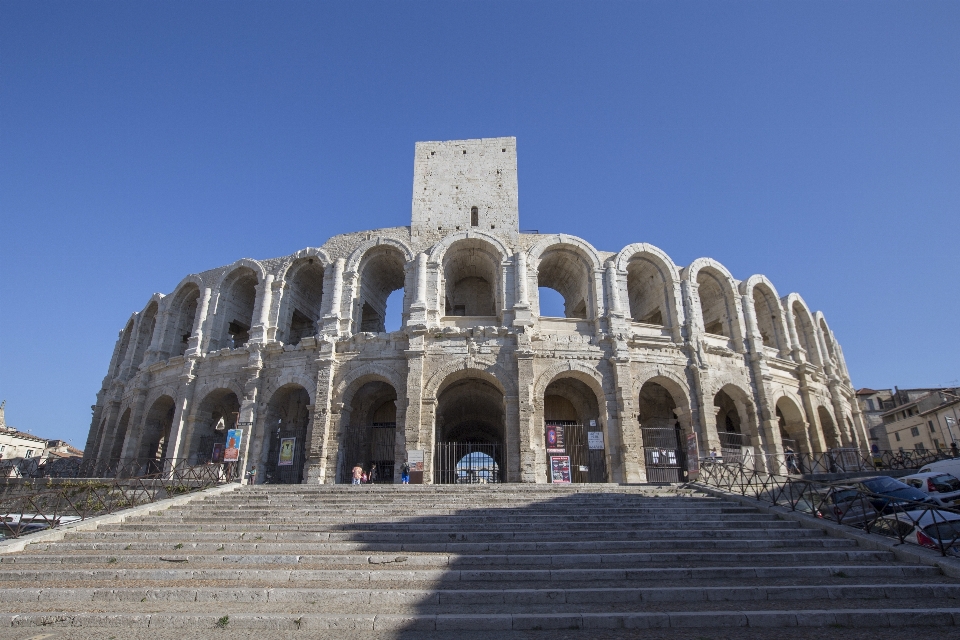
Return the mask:
POLYGON ((166 554, 150 554, 120 551, 111 555, 101 554, 17 554, 0 556, 0 565, 32 564, 137 564, 151 565, 161 562, 190 562, 191 564, 238 564, 252 565, 337 565, 337 566, 418 566, 463 568, 473 566, 591 566, 591 567, 637 567, 665 563, 701 563, 727 565, 732 563, 763 563, 768 566, 786 563, 844 563, 844 562, 894 562, 896 556, 889 551, 682 551, 651 553, 591 553, 591 554, 510 554, 510 555, 366 555, 366 554, 219 554, 196 553, 183 550, 166 554))

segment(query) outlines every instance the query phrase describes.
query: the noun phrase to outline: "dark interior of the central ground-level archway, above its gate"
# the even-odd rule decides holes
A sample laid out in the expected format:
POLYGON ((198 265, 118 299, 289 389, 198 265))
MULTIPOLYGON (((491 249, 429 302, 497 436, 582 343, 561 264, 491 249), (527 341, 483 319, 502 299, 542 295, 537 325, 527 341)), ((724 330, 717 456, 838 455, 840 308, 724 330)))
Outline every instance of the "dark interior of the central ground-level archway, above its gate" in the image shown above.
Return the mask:
POLYGON ((437 442, 503 443, 503 394, 479 378, 458 380, 437 398, 437 442))

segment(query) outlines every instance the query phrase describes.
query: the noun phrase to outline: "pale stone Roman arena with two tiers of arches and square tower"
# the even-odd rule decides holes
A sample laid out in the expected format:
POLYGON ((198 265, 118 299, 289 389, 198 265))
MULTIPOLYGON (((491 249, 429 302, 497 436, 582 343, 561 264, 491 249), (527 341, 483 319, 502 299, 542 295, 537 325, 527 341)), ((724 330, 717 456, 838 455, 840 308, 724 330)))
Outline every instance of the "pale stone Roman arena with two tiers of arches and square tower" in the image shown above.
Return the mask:
POLYGON ((761 467, 865 450, 823 314, 710 258, 520 231, 516 159, 514 138, 417 143, 410 226, 154 294, 120 332, 87 458, 204 464, 238 427, 253 482, 346 482, 357 463, 398 482, 417 452, 427 483, 471 460, 490 464, 466 481, 549 482, 558 453, 574 482, 644 482, 711 450, 761 467), (540 315, 541 287, 565 317, 540 315))

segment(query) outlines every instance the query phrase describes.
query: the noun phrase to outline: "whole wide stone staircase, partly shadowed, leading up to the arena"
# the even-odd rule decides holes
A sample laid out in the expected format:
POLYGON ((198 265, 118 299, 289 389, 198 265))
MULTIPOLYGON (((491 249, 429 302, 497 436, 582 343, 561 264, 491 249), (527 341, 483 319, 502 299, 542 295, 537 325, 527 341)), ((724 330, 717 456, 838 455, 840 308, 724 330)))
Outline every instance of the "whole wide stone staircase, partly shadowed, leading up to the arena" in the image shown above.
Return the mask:
POLYGON ((0 555, 0 612, 348 637, 953 626, 960 581, 670 487, 258 486, 0 555))

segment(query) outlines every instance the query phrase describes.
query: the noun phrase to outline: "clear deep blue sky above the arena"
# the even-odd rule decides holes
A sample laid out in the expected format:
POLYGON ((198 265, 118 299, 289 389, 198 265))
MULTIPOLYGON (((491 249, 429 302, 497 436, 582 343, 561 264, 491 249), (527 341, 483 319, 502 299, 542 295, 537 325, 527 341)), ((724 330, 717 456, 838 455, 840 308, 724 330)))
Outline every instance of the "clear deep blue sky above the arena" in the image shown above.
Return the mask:
POLYGON ((409 224, 516 136, 521 227, 767 275, 854 385, 960 378, 960 2, 0 3, 0 397, 83 444, 118 332, 241 257, 409 224))

